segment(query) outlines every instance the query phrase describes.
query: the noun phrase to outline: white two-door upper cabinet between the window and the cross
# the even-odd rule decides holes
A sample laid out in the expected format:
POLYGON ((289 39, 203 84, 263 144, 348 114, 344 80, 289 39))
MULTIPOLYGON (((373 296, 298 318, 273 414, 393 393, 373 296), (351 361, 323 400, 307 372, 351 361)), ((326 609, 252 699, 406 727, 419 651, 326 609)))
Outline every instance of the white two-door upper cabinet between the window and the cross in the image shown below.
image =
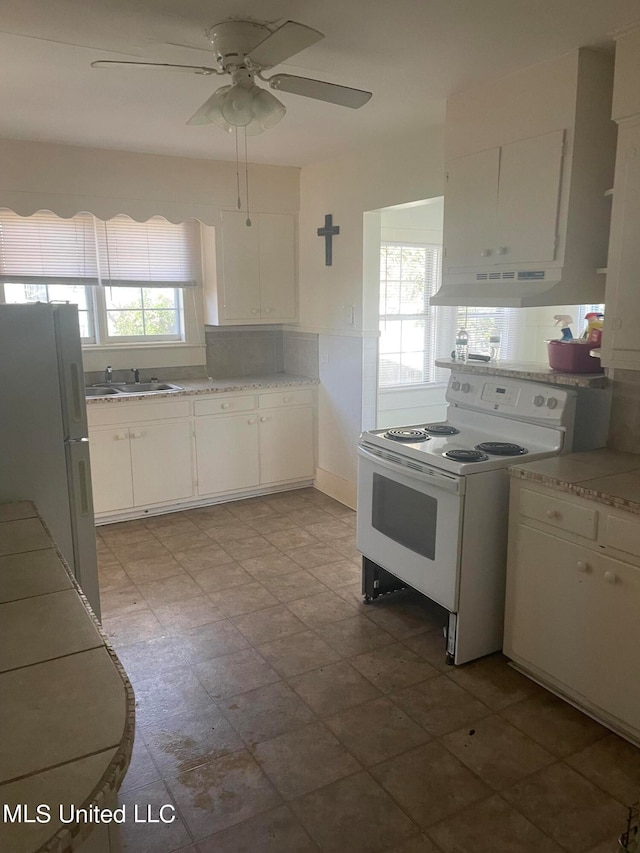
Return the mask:
POLYGON ((295 322, 295 218, 255 213, 251 226, 246 218, 225 210, 219 228, 202 227, 205 322, 295 322))

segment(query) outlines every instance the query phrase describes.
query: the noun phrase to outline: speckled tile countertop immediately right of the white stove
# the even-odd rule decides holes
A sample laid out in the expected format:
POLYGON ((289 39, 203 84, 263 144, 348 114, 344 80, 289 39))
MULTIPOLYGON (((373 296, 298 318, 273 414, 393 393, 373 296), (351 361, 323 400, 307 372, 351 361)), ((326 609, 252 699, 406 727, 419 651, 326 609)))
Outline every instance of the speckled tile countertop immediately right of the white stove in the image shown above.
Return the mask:
POLYGON ((591 450, 511 465, 513 477, 640 514, 640 454, 591 450))

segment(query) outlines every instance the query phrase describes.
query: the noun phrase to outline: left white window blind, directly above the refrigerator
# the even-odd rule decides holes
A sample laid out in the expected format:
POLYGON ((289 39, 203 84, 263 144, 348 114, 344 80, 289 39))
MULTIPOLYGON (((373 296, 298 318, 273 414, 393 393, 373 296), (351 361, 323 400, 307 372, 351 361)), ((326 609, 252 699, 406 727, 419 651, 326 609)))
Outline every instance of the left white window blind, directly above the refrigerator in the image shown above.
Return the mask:
POLYGON ((0 282, 99 284, 94 217, 62 219, 48 210, 18 216, 0 209, 0 282))

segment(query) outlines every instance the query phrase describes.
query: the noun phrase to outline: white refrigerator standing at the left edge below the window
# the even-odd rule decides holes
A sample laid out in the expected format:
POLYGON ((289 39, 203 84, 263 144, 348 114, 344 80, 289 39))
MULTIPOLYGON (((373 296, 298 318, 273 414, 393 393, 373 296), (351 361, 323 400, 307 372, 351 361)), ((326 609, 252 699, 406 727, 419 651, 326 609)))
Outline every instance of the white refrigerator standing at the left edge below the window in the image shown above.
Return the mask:
POLYGON ((100 617, 75 305, 0 305, 0 501, 32 500, 100 617))

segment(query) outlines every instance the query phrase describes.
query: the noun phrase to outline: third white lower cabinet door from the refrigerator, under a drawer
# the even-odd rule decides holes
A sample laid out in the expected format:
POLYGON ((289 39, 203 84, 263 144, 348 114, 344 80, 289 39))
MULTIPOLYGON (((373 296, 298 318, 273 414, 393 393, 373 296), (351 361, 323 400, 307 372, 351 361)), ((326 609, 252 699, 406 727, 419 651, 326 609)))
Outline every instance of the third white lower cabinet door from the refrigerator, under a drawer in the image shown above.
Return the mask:
POLYGON ((257 486, 257 415, 196 418, 196 458, 200 495, 257 486))

